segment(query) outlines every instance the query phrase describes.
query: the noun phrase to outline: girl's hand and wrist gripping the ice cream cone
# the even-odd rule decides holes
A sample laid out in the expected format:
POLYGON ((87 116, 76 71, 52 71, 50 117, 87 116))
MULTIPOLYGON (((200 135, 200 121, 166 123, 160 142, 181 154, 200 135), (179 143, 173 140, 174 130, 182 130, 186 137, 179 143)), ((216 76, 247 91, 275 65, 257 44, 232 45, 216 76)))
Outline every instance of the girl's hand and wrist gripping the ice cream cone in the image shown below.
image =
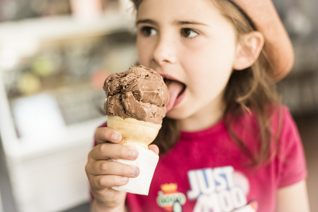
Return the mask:
MULTIPOLYGON (((107 159, 138 158, 138 151, 134 147, 118 144, 122 139, 119 132, 101 127, 95 131, 95 146, 88 154, 85 171, 90 188, 94 196, 93 211, 124 211, 126 192, 112 189, 113 186, 125 185, 129 177, 137 177, 139 168, 134 165, 123 164, 107 159)), ((149 146, 155 153, 159 153, 156 145, 149 146)))

